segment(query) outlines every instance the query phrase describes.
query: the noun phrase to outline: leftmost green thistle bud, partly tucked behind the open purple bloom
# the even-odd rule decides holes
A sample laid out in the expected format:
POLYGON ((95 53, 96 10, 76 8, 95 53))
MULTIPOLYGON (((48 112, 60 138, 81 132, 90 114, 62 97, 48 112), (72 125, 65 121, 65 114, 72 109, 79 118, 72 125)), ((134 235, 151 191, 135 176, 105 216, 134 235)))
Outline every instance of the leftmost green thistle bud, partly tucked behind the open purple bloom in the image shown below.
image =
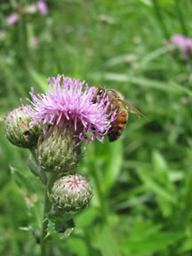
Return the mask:
POLYGON ((42 133, 42 125, 36 124, 29 128, 32 121, 27 116, 27 107, 15 108, 5 119, 5 136, 10 142, 20 148, 32 148, 36 146, 39 135, 42 133))

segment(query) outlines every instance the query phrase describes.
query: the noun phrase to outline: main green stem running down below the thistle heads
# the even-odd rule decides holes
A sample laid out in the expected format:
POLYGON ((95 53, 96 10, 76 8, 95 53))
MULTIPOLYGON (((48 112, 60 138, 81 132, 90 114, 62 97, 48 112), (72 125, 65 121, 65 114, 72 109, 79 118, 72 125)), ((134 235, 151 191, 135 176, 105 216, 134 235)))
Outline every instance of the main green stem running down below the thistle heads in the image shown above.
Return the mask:
POLYGON ((46 250, 47 250, 47 228, 49 224, 49 220, 47 219, 48 213, 51 210, 52 204, 49 200, 48 194, 52 190, 52 184, 54 180, 56 180, 57 174, 51 173, 49 177, 49 181, 47 182, 45 188, 44 188, 44 217, 43 217, 43 224, 42 224, 42 233, 41 233, 41 253, 42 256, 46 256, 46 250))

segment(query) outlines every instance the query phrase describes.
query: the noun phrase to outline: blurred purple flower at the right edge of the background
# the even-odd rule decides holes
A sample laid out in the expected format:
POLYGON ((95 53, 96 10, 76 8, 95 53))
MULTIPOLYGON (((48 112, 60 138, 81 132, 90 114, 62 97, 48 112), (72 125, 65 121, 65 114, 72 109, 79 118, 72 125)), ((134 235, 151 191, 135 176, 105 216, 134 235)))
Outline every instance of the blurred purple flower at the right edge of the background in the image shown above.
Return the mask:
POLYGON ((180 47, 180 52, 183 59, 188 59, 192 49, 192 39, 190 37, 174 35, 171 38, 171 43, 180 47))

